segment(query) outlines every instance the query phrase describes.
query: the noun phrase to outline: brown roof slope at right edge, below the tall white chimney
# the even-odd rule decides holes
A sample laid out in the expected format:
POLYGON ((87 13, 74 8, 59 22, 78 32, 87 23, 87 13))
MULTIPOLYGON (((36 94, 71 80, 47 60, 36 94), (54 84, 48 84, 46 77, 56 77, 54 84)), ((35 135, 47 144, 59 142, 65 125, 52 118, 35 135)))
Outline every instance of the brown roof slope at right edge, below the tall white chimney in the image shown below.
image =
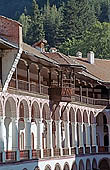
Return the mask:
POLYGON ((71 57, 79 64, 84 65, 87 71, 104 82, 110 82, 110 60, 96 59, 94 64, 90 64, 87 58, 71 57))

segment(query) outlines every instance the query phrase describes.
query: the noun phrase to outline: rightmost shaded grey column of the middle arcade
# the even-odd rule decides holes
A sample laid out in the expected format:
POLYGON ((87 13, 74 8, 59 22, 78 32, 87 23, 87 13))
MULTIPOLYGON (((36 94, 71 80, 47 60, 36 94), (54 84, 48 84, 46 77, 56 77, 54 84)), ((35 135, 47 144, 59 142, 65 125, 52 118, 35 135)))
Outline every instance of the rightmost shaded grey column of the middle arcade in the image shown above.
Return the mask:
POLYGON ((92 146, 96 146, 96 151, 98 152, 96 140, 96 124, 91 124, 91 130, 92 130, 92 146))

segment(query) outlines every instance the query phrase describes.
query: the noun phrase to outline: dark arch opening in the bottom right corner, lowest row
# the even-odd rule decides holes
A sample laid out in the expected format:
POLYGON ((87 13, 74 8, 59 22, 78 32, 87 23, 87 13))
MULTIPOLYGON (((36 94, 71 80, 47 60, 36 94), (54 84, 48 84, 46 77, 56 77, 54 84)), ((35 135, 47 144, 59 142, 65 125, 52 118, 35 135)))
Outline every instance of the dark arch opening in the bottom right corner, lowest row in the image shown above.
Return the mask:
POLYGON ((99 161, 99 166, 100 170, 110 170, 110 165, 109 165, 109 159, 108 158, 103 158, 99 161))

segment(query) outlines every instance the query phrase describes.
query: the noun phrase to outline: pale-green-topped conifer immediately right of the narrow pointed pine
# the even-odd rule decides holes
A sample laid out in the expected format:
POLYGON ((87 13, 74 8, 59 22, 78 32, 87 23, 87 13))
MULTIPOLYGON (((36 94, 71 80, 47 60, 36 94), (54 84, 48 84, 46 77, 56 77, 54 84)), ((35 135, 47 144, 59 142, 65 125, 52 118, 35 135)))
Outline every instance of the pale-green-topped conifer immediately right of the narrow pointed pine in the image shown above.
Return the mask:
POLYGON ((55 5, 51 7, 49 1, 47 1, 43 9, 43 17, 45 38, 49 46, 54 47, 57 44, 57 35, 61 23, 61 10, 60 8, 58 10, 55 5))

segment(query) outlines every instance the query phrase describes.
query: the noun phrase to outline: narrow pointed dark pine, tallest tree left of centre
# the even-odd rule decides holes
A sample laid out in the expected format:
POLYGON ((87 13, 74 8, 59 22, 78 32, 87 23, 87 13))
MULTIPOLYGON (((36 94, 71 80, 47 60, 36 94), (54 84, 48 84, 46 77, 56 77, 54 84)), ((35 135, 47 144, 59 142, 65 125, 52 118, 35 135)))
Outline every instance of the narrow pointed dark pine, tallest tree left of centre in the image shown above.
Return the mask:
POLYGON ((43 29, 43 17, 38 8, 36 0, 32 2, 32 12, 31 12, 31 23, 29 30, 26 34, 27 43, 34 44, 35 42, 44 39, 44 29, 43 29))

